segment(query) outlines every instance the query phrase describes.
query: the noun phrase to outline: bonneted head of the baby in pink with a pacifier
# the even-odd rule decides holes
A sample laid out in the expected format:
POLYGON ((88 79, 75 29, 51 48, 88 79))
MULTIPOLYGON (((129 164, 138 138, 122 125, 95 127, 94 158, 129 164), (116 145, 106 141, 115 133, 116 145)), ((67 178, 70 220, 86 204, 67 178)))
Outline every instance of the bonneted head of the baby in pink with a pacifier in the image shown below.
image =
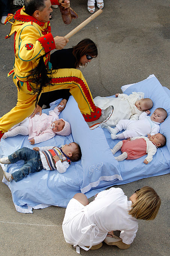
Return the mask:
POLYGON ((53 123, 52 123, 52 127, 53 127, 52 131, 54 131, 56 134, 63 135, 63 136, 68 136, 69 134, 71 134, 71 126, 69 122, 60 118, 59 120, 54 121, 53 123))

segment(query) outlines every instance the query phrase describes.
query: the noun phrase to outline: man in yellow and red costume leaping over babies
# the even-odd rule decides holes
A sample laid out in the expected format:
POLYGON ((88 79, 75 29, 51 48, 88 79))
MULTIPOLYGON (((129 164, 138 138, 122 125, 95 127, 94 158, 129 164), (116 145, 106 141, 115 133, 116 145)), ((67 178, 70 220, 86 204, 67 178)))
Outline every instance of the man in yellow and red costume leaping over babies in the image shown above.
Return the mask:
MULTIPOLYGON (((113 107, 106 110, 96 107, 89 87, 80 70, 77 69, 59 69, 57 72, 49 74, 47 72, 47 82, 41 89, 38 82, 30 79, 30 72, 39 64, 39 58, 47 70, 50 59, 50 51, 53 49, 62 49, 68 43, 64 37, 53 37, 50 27, 51 3, 60 5, 61 0, 25 0, 23 8, 9 14, 6 22, 12 24, 11 31, 6 37, 14 34, 14 69, 8 75, 13 75, 14 84, 18 89, 18 102, 16 107, 0 119, 0 139, 3 134, 12 126, 23 121, 30 116, 35 109, 35 101, 43 92, 58 89, 70 88, 70 93, 77 101, 78 107, 83 114, 85 121, 90 129, 99 126, 111 116, 113 107), (13 22, 10 20, 13 19, 13 22), (43 57, 43 58, 42 58, 43 57), (49 85, 49 86, 47 86, 49 85)), ((66 8, 69 1, 65 0, 62 5, 66 8)), ((44 75, 40 72, 36 77, 44 75)), ((39 80, 36 80, 39 81, 39 80)))

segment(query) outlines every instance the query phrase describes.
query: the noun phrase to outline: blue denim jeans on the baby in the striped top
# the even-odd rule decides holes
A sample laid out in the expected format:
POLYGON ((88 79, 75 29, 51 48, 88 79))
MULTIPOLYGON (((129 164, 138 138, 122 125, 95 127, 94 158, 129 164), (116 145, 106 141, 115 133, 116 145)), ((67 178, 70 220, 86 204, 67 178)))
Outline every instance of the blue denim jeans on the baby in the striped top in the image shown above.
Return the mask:
POLYGON ((30 148, 20 148, 9 155, 8 159, 11 163, 17 163, 21 159, 24 160, 24 165, 18 171, 12 173, 16 182, 30 173, 39 172, 43 169, 39 152, 30 148))

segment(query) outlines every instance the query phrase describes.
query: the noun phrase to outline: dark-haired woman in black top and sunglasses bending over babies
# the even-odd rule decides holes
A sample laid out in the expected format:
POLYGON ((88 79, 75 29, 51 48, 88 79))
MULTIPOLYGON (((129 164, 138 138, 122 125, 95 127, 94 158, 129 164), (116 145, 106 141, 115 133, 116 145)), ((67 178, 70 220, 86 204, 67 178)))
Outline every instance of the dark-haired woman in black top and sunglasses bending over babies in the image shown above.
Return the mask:
MULTIPOLYGON (((50 55, 50 62, 52 69, 79 69, 80 67, 86 67, 87 63, 98 55, 96 44, 89 38, 81 40, 76 46, 69 49, 56 50, 50 55)), ((50 103, 57 99, 62 99, 59 110, 62 111, 69 99, 69 89, 49 91, 42 93, 38 101, 36 110, 31 117, 35 116, 36 113, 42 113, 42 106, 50 108, 50 103)))

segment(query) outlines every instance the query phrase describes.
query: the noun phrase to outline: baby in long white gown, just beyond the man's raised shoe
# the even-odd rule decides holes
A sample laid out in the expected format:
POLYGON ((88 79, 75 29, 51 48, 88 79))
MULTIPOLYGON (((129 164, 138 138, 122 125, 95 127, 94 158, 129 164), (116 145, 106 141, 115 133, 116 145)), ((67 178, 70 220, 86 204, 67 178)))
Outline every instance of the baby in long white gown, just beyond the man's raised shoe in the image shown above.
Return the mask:
POLYGON ((143 111, 149 110, 153 106, 151 99, 144 99, 143 92, 135 91, 130 95, 116 93, 116 98, 98 96, 93 101, 97 107, 102 109, 110 105, 114 107, 113 114, 104 123, 104 127, 115 126, 122 119, 138 120, 138 117, 143 111))

